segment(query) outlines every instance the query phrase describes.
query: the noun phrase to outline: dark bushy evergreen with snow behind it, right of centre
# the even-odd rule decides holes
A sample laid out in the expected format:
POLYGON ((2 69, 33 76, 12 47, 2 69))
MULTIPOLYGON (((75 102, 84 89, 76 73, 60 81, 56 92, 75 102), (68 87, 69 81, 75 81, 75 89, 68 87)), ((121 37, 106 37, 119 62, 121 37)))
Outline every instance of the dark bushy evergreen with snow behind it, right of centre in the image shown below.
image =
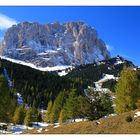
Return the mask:
POLYGON ((86 94, 89 98, 87 106, 86 117, 89 120, 99 119, 105 115, 109 115, 114 112, 112 107, 112 100, 109 94, 103 94, 94 91, 94 88, 86 89, 86 94))

